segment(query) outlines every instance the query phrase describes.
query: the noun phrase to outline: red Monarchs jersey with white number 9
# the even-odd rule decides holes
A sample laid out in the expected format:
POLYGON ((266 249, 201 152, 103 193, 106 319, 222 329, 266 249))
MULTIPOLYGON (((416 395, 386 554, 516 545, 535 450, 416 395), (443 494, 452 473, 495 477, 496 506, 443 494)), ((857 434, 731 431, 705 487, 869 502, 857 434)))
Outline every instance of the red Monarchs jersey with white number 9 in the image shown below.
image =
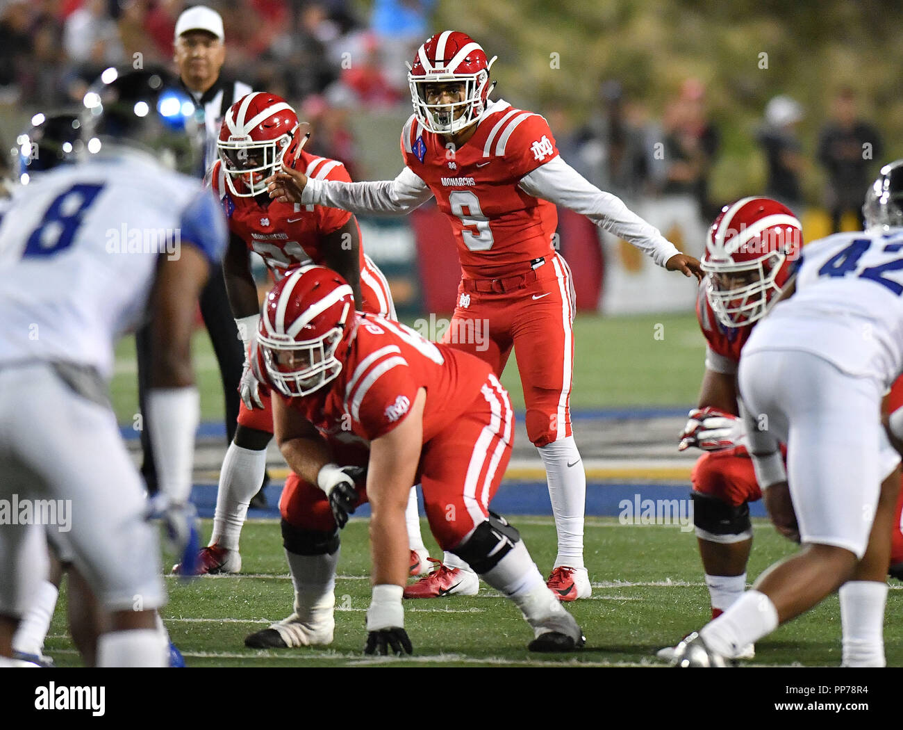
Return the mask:
POLYGON ((405 165, 429 186, 452 221, 467 276, 494 278, 507 266, 554 253, 554 204, 517 186, 558 155, 543 117, 494 102, 474 135, 452 149, 412 115, 402 131, 401 151, 405 165))

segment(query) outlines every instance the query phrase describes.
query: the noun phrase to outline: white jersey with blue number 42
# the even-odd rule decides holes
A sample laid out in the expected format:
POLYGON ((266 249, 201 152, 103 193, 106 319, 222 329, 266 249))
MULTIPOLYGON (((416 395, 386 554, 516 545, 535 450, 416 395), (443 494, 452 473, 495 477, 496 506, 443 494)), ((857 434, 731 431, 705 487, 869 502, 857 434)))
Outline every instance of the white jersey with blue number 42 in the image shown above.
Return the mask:
POLYGON ((812 352, 889 387, 903 369, 903 229, 805 246, 796 293, 756 325, 743 353, 759 350, 812 352))

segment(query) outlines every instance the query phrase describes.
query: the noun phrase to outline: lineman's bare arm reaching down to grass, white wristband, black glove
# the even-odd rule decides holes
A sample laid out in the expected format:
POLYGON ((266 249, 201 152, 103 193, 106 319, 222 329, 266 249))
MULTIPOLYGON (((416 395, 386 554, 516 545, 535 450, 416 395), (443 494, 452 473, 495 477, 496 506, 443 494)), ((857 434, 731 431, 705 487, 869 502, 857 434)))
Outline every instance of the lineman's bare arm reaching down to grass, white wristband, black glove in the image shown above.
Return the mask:
POLYGON ((374 585, 367 612, 368 654, 413 653, 401 604, 410 555, 405 508, 423 448, 425 403, 426 390, 420 388, 405 419, 370 444, 367 493, 374 585))

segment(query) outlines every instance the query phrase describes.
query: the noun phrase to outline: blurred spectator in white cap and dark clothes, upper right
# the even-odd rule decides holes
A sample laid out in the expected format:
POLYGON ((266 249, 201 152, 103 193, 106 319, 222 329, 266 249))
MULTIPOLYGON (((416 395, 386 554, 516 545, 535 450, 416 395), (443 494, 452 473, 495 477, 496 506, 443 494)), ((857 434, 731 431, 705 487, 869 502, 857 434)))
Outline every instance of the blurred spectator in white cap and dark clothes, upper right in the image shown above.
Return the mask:
POLYGON ((768 182, 765 194, 784 203, 799 215, 803 207, 803 192, 799 176, 805 170, 796 127, 803 120, 803 108, 787 96, 777 96, 765 108, 765 125, 757 139, 768 160, 768 182))

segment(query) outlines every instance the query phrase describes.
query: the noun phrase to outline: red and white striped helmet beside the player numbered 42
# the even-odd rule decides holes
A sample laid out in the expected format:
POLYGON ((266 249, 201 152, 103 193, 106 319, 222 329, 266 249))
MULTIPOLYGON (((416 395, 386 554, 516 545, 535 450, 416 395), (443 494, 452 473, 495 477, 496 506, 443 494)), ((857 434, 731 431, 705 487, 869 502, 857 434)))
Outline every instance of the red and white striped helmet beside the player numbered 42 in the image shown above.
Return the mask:
POLYGON ((799 220, 769 198, 743 198, 721 209, 706 241, 705 295, 726 327, 742 327, 768 313, 787 284, 803 246, 799 220))

